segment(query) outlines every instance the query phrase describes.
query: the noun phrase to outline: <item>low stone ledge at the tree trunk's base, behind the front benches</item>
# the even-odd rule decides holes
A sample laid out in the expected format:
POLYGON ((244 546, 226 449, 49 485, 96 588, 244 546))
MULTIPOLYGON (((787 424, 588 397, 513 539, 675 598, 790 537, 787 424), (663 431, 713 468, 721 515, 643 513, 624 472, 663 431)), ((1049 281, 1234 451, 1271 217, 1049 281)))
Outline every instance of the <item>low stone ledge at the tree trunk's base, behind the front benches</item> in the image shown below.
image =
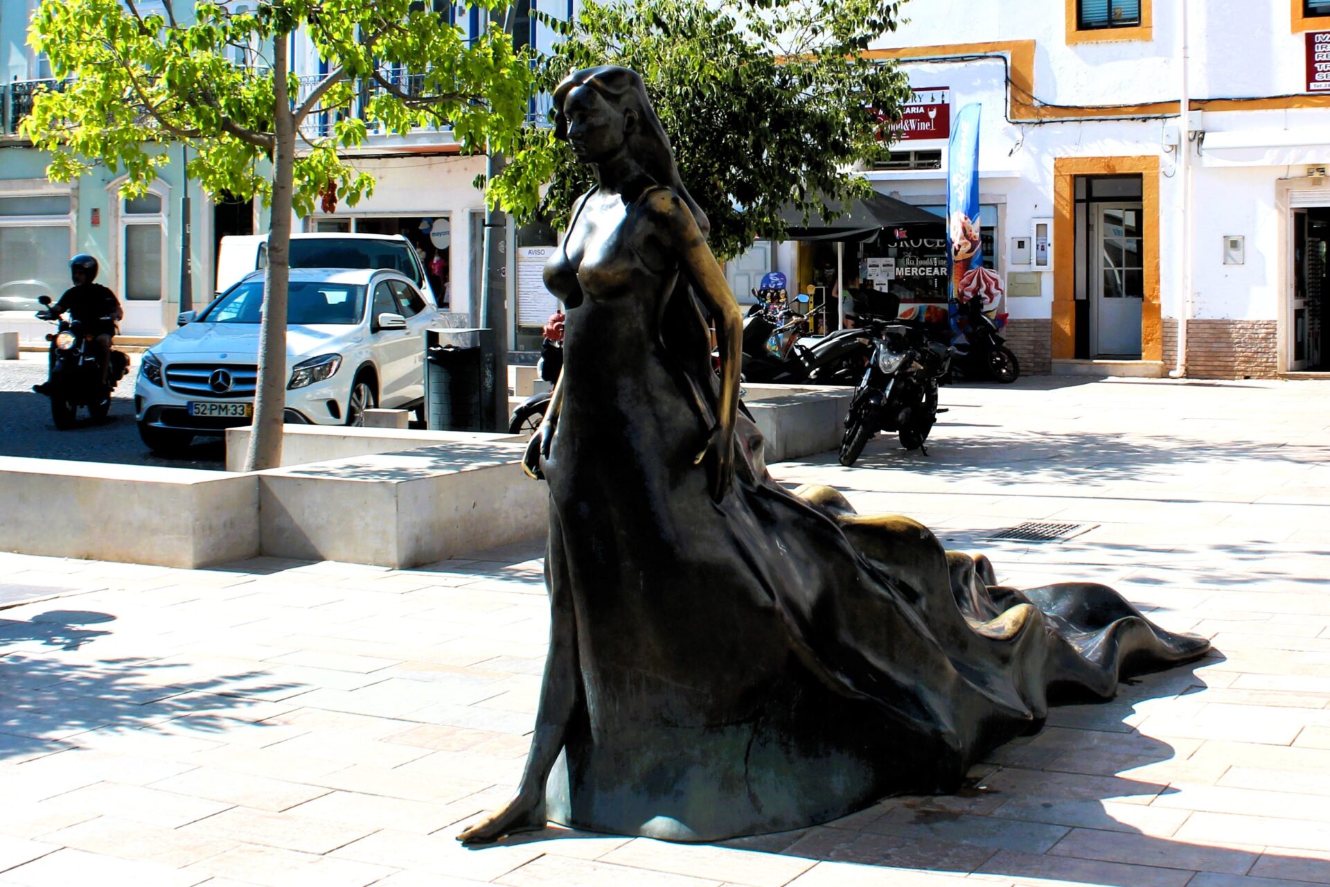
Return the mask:
MULTIPOLYGON (((311 461, 371 456, 451 443, 501 443, 521 438, 476 431, 412 431, 410 428, 348 428, 346 426, 282 426, 282 467, 311 461)), ((226 471, 243 471, 250 426, 226 430, 226 471)))

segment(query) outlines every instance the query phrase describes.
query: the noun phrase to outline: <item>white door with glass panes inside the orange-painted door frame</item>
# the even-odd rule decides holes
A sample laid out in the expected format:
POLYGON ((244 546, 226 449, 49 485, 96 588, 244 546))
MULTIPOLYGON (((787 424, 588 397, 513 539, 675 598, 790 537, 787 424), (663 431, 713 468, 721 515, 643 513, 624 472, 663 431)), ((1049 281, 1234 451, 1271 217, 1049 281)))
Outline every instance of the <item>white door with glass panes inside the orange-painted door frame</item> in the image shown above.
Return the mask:
POLYGON ((1140 203, 1099 203, 1095 210, 1095 277, 1091 302, 1095 355, 1141 356, 1145 262, 1140 203))

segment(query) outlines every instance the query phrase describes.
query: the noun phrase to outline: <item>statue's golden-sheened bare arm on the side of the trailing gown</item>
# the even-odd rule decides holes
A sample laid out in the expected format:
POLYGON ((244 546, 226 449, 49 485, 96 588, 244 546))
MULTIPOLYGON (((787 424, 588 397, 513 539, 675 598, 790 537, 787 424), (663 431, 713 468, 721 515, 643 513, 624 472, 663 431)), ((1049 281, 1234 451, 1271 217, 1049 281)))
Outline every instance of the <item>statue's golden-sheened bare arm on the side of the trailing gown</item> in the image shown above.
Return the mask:
POLYGON ((743 318, 725 273, 712 255, 688 205, 674 191, 661 189, 649 195, 646 206, 660 225, 669 251, 678 257, 684 273, 693 283, 693 291, 716 322, 721 351, 721 392, 716 427, 697 461, 710 460, 712 499, 720 501, 734 479, 734 424, 739 404, 743 318))

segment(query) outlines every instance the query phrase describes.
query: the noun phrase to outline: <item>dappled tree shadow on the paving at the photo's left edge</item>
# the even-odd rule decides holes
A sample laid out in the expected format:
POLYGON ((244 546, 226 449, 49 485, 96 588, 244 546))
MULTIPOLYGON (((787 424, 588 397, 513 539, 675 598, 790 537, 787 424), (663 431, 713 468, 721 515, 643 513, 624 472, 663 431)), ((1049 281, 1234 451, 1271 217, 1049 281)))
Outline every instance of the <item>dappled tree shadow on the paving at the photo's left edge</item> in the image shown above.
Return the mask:
POLYGON ((89 656, 84 648, 112 636, 104 626, 114 618, 93 610, 0 618, 0 761, 74 747, 89 730, 165 731, 177 718, 201 735, 222 733, 265 697, 299 689, 262 670, 206 677, 178 661, 89 656))

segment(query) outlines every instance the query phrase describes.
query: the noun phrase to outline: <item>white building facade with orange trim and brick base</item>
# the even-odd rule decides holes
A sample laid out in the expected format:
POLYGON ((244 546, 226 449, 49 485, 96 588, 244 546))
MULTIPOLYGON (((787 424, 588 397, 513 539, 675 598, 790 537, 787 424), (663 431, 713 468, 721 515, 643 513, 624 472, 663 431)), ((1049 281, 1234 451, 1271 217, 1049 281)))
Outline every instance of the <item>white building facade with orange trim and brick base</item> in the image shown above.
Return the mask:
MULTIPOLYGON (((1027 372, 1330 368, 1330 3, 1277 0, 1242 15, 1217 0, 904 12, 891 45, 872 55, 900 63, 915 106, 892 164, 866 176, 882 193, 944 206, 942 121, 982 104, 984 246, 1005 277, 1011 343, 1027 372)), ((903 302, 928 302, 930 275, 944 289, 942 237, 940 225, 884 230, 847 245, 842 273, 854 279, 866 258, 894 257, 903 302)), ((771 263, 802 291, 826 282, 827 249, 778 245, 771 263)))

